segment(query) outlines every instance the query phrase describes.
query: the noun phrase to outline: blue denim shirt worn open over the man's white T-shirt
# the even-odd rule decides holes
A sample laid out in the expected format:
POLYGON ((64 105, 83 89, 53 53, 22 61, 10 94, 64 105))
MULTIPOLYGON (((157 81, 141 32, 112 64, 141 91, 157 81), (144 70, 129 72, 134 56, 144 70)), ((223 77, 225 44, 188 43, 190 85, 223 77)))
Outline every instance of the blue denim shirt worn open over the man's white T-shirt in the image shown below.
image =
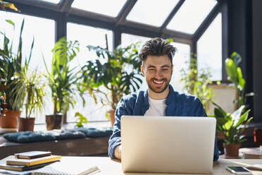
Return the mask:
MULTIPOLYGON (((169 94, 166 99, 166 116, 206 116, 203 104, 200 99, 192 95, 180 94, 173 90, 169 85, 169 94)), ((124 96, 116 109, 116 122, 113 126, 113 134, 109 139, 108 155, 111 158, 114 156, 114 150, 121 144, 120 138, 120 119, 123 115, 144 116, 149 109, 149 101, 147 91, 138 91, 124 96)), ((217 160, 219 157, 218 147, 215 140, 214 157, 217 160)))

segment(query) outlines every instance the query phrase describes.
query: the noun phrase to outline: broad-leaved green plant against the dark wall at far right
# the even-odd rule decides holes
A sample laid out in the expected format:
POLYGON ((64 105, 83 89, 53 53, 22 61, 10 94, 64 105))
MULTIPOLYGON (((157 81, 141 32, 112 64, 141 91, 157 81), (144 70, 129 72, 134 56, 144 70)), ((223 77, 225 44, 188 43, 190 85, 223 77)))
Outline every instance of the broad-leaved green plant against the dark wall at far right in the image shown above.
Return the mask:
POLYGON ((239 67, 240 62, 242 61, 242 57, 237 54, 237 52, 233 52, 230 58, 225 60, 225 71, 227 72, 227 80, 230 80, 234 83, 237 89, 237 99, 234 103, 237 103, 237 108, 242 105, 247 106, 247 97, 253 96, 254 93, 245 93, 245 85, 246 81, 242 76, 241 68, 239 67))

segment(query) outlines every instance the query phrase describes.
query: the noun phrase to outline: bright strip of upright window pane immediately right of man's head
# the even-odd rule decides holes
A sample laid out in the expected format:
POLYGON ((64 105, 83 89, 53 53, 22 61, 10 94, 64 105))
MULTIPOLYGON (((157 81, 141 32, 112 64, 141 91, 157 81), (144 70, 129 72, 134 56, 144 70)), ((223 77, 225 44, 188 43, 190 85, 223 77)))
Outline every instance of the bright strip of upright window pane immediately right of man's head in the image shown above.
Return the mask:
POLYGON ((177 48, 177 52, 175 52, 175 56, 173 57, 173 76, 170 84, 173 86, 174 90, 181 92, 184 84, 180 82, 180 71, 182 68, 187 69, 189 66, 190 46, 178 42, 172 42, 171 44, 177 48))

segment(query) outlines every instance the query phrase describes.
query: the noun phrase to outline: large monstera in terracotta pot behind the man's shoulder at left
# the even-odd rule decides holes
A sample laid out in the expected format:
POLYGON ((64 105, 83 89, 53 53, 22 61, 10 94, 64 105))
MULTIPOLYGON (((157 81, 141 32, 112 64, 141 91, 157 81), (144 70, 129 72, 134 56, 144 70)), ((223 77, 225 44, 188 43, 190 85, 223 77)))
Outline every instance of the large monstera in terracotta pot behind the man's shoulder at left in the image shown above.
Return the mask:
POLYGON ((139 89, 142 84, 137 44, 130 44, 127 47, 118 46, 111 52, 106 37, 105 49, 87 46, 89 51, 96 52, 97 58, 94 61, 87 61, 87 64, 82 66, 82 92, 87 90, 94 97, 95 102, 98 94, 104 96, 101 102, 111 107, 106 116, 110 117, 112 126, 120 98, 139 89))

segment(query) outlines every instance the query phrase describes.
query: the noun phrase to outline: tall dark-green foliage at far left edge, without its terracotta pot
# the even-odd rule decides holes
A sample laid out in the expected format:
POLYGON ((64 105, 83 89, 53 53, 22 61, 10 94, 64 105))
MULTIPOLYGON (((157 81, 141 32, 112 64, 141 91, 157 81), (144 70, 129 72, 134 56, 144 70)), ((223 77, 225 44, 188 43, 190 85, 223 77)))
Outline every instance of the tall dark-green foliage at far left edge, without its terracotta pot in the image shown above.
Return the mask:
MULTIPOLYGON (((4 35, 4 46, 3 49, 0 49, 0 78, 1 78, 1 85, 5 86, 4 90, 4 96, 6 99, 7 109, 18 111, 21 107, 23 107, 22 101, 14 101, 14 97, 17 97, 20 95, 19 92, 12 91, 18 77, 16 74, 22 73, 22 33, 23 33, 23 27, 24 27, 24 20, 22 22, 21 28, 20 28, 20 35, 19 35, 19 41, 18 41, 18 50, 17 54, 13 53, 13 42, 10 42, 8 37, 6 37, 5 34, 2 32, 1 35, 4 35)), ((30 56, 32 54, 32 48, 34 46, 34 42, 31 44, 30 48, 30 56)))

